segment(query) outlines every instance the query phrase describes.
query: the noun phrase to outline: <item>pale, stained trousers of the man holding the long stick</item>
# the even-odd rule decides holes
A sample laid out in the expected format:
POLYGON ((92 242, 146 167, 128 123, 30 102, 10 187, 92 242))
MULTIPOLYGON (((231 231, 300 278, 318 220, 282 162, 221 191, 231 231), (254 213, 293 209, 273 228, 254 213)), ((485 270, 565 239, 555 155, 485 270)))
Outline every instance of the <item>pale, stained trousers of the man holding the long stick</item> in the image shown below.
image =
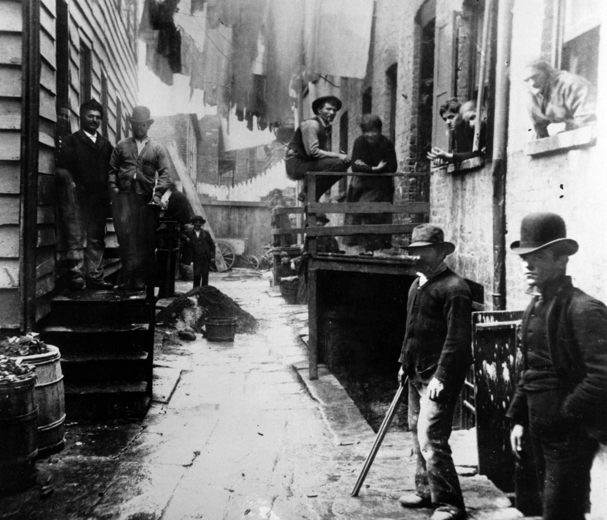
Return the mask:
POLYGON ((457 395, 435 402, 428 397, 428 383, 415 376, 409 378, 408 419, 417 456, 416 494, 430 498, 434 507, 450 505, 463 512, 464 499, 449 446, 457 395))

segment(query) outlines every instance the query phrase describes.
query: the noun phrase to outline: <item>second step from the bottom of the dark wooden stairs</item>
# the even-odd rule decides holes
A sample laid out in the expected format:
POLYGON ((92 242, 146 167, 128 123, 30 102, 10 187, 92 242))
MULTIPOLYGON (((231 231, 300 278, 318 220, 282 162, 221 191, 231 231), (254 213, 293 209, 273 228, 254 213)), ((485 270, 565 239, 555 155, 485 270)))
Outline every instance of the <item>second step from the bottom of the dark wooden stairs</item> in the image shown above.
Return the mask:
POLYGON ((68 353, 61 356, 66 384, 100 383, 108 380, 151 380, 151 355, 145 351, 68 353))

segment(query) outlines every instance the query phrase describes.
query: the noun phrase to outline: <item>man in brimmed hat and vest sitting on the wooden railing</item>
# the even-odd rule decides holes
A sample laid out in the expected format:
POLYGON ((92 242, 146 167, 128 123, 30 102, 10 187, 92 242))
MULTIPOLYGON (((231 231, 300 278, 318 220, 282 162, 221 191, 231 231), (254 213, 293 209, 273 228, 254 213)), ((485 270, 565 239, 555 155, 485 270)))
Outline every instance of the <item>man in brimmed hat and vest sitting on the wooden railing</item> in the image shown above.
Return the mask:
MULTIPOLYGON (((288 178, 300 181, 307 172, 348 171, 350 157, 345 153, 331 152, 331 123, 341 106, 341 100, 336 96, 322 96, 313 101, 312 112, 315 116, 302 121, 288 144, 285 157, 288 178)), ((341 178, 341 175, 319 177, 316 200, 341 178)), ((306 197, 304 187, 297 198, 305 201, 306 197)))

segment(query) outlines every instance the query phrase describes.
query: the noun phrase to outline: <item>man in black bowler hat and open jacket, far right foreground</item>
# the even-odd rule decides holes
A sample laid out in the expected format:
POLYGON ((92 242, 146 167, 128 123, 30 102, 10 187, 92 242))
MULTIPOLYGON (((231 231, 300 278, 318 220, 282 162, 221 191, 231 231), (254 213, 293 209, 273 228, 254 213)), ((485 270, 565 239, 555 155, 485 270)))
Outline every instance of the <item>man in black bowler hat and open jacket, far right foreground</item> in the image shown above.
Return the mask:
POLYGON ((533 451, 544 520, 584 520, 607 433, 607 308, 566 275, 578 244, 559 215, 526 215, 510 249, 532 294, 521 324, 523 373, 506 413, 510 443, 517 457, 533 451))

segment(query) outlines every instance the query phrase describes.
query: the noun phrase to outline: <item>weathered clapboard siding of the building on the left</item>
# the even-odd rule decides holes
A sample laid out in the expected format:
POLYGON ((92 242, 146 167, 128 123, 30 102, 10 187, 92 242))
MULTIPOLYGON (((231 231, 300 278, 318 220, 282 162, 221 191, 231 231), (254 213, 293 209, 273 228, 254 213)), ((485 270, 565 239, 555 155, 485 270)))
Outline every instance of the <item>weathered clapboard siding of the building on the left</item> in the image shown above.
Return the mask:
MULTIPOLYGON (((35 316, 47 309, 45 299, 59 274, 55 231, 55 147, 58 116, 58 3, 41 0, 39 26, 39 110, 37 191, 24 198, 22 171, 23 4, 0 0, 0 327, 23 326, 24 304, 19 277, 25 262, 35 263, 35 316), (30 201, 30 202, 28 202, 30 201), (22 204, 37 204, 35 258, 22 254, 22 204)), ((64 5, 64 4, 62 4, 64 5)), ((72 0, 67 4, 67 115, 70 132, 78 129, 81 95, 81 44, 90 49, 91 95, 107 100, 106 133, 115 143, 126 134, 126 116, 137 100, 137 2, 135 0, 72 0), (102 88, 103 84, 103 88, 102 88), (120 104, 121 109, 117 106, 120 104), (117 117, 118 116, 118 117, 117 117), (118 130, 120 128, 120 130, 118 130)), ((25 28, 27 29, 27 27, 25 28)), ((63 55, 65 56, 65 55, 63 55)), ((64 91, 65 92, 65 91, 64 91)), ((32 109, 30 107, 29 109, 32 109)), ((34 170, 36 171, 36 170, 34 170)), ((112 230, 113 232, 113 230, 112 230)), ((111 238, 111 237, 110 237, 111 238)))

